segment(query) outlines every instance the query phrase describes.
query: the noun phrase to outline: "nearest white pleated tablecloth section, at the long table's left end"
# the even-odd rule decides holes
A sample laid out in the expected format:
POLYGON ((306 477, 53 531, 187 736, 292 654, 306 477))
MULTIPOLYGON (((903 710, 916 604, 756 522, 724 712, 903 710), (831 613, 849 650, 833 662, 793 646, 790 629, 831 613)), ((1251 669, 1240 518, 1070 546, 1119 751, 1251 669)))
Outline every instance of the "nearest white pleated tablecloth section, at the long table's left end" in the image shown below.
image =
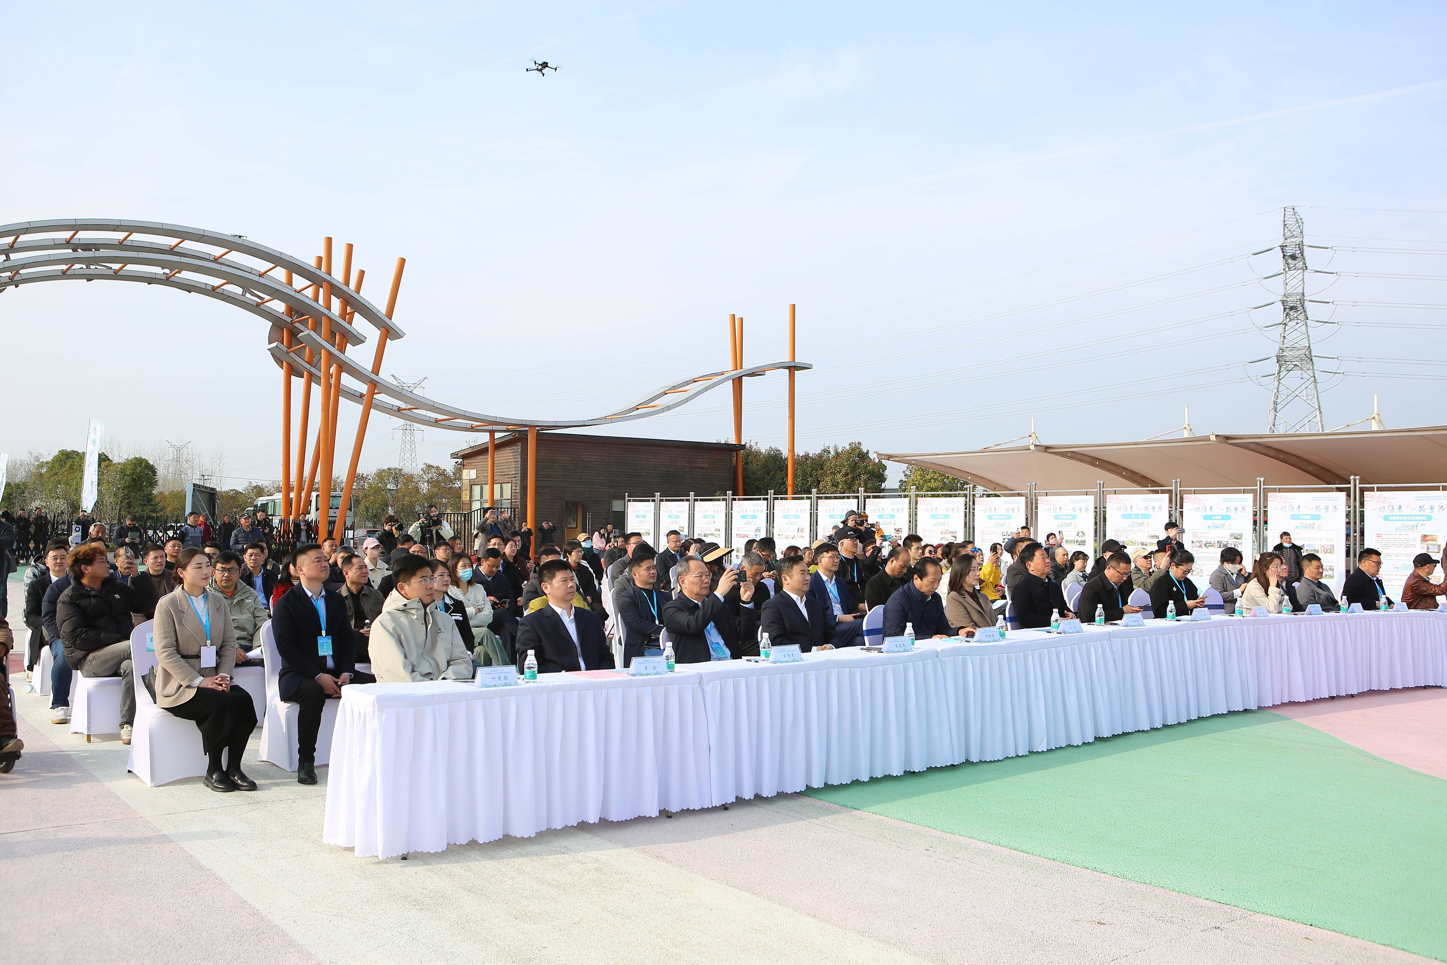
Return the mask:
POLYGON ((357 855, 712 804, 697 674, 341 693, 323 841, 357 855))

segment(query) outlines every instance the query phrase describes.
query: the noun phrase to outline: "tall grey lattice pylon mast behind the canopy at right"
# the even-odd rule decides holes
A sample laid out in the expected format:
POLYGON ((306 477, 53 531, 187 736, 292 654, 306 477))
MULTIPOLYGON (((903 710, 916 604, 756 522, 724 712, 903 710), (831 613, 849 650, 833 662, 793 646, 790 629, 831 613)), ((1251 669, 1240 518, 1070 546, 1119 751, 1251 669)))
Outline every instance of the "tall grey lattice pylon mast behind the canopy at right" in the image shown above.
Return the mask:
POLYGON ((1307 318, 1305 231, 1294 207, 1282 208, 1281 260, 1281 340, 1266 431, 1320 433, 1321 396, 1317 360, 1311 354, 1311 320, 1307 318))

